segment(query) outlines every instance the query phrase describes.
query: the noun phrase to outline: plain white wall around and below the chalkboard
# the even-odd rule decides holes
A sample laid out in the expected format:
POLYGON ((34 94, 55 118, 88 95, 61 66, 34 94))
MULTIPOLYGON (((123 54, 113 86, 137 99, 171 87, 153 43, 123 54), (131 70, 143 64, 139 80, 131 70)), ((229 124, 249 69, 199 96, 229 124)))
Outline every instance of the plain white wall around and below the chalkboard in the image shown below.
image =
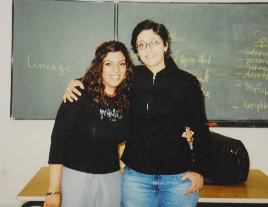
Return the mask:
MULTIPOLYGON (((10 119, 12 0, 0 1, 0 31, 0 206, 11 207, 19 206, 17 194, 41 167, 47 166, 54 121, 10 119)), ((268 175, 268 128, 211 131, 240 139, 248 150, 250 168, 268 175)))

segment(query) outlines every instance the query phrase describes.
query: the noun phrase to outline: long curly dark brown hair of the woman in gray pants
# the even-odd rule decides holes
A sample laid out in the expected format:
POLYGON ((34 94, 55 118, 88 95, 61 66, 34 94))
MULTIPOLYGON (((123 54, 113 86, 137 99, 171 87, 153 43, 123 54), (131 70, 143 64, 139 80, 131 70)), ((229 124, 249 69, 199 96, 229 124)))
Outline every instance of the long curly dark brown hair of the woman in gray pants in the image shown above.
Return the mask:
POLYGON ((120 113, 127 111, 129 108, 129 94, 131 87, 131 79, 133 77, 132 66, 126 46, 117 41, 109 41, 102 43, 96 48, 95 57, 91 62, 91 66, 87 69, 85 76, 82 78, 82 83, 88 88, 88 93, 91 94, 93 106, 97 108, 108 107, 105 99, 105 85, 102 82, 103 59, 109 52, 122 52, 126 58, 126 78, 116 88, 116 104, 120 113))

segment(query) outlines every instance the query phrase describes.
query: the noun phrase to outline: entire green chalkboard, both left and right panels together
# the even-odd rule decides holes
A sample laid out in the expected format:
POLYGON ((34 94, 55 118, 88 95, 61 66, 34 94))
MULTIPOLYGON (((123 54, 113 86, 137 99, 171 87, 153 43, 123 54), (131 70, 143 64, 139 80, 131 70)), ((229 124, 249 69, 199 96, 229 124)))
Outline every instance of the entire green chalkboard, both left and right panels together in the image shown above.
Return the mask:
POLYGON ((66 84, 84 75, 96 46, 115 38, 130 49, 133 28, 152 19, 169 30, 179 68, 200 81, 209 122, 267 127, 267 10, 253 3, 14 0, 11 117, 54 119, 66 84))

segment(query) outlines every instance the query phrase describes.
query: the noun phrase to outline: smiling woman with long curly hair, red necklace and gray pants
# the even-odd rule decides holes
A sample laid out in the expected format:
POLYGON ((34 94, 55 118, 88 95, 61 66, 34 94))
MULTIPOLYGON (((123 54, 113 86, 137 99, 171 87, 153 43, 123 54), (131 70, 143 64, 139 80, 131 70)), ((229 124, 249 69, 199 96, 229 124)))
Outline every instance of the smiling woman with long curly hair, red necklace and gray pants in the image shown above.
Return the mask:
POLYGON ((102 43, 82 78, 87 90, 61 104, 51 136, 44 207, 119 207, 118 144, 128 133, 132 62, 123 43, 102 43))

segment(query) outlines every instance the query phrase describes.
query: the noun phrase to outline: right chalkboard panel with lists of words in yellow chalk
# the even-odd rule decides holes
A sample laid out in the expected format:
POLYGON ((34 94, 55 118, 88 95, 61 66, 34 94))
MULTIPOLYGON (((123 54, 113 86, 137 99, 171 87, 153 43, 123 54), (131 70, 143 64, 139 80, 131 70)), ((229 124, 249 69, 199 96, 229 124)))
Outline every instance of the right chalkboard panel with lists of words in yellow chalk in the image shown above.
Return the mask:
POLYGON ((118 40, 131 48, 138 22, 164 24, 175 62, 202 85, 208 120, 267 127, 267 10, 268 4, 119 2, 118 40))

